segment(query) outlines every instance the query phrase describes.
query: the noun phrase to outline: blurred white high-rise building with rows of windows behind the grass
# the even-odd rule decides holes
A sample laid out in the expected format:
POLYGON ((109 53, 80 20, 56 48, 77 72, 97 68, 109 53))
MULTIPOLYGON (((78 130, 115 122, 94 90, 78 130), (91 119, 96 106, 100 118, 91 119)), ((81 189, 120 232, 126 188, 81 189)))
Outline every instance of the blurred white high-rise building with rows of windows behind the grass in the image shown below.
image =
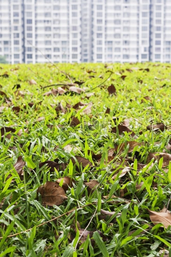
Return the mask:
POLYGON ((170 0, 0 0, 9 63, 171 62, 170 0))

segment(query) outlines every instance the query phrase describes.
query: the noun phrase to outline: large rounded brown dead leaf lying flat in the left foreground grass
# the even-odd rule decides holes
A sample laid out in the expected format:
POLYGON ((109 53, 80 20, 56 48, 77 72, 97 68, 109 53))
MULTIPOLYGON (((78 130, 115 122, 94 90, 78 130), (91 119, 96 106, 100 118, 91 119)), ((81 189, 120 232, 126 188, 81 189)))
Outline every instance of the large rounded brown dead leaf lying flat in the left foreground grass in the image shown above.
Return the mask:
POLYGON ((37 189, 37 194, 41 194, 42 205, 61 205, 66 199, 65 191, 57 183, 47 181, 37 189))

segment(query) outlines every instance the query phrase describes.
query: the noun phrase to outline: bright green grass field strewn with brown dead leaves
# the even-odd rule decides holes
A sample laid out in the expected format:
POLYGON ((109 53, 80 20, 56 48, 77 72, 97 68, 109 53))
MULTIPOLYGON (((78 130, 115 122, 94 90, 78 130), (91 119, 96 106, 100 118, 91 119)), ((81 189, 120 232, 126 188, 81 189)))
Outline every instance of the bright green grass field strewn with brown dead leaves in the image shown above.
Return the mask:
POLYGON ((0 66, 0 257, 171 256, 171 65, 0 66))

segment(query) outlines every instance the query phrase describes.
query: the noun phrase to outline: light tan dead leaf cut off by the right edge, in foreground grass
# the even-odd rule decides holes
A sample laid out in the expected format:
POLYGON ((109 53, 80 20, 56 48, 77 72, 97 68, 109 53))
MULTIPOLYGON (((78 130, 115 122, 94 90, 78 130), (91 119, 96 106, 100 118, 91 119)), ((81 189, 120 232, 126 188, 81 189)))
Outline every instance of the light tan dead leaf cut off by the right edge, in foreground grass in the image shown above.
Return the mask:
POLYGON ((150 219, 154 225, 161 223, 161 227, 168 228, 171 225, 171 214, 167 212, 154 212, 152 210, 148 210, 150 214, 150 219))

